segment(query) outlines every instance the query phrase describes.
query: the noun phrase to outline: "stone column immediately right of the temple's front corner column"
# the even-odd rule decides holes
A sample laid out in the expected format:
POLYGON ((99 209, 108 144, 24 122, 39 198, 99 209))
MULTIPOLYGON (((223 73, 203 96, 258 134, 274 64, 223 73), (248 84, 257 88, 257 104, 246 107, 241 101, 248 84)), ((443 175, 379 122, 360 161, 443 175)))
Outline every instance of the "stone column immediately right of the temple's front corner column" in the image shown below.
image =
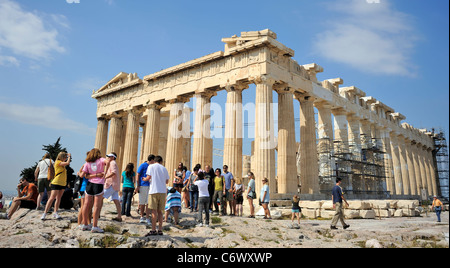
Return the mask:
POLYGON ((297 193, 294 93, 288 85, 275 89, 278 92, 278 193, 297 193))

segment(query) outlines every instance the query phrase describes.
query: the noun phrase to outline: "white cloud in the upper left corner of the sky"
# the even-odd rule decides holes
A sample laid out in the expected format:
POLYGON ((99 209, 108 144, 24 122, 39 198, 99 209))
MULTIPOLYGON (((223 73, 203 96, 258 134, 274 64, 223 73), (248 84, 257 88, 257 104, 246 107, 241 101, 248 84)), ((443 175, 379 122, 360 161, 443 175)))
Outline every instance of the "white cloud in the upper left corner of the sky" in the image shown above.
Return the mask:
MULTIPOLYGON (((67 19, 51 15, 53 23, 68 27, 67 19)), ((11 0, 0 0, 0 48, 1 57, 24 56, 33 60, 50 60, 54 53, 64 53, 58 42, 58 31, 49 27, 42 16, 28 12, 11 0), (7 50, 8 54, 5 55, 7 50)), ((4 63, 6 60, 1 61, 4 63)))

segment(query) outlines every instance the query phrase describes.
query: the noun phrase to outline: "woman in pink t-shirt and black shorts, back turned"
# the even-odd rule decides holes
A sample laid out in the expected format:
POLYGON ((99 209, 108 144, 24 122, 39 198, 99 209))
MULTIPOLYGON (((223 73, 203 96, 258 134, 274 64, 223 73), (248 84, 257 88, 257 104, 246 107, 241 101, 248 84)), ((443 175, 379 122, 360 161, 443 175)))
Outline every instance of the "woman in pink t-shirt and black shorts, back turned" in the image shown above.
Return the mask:
POLYGON ((86 163, 83 167, 82 177, 88 179, 86 185, 85 204, 83 206, 83 231, 89 230, 88 217, 90 210, 93 208, 92 233, 103 233, 104 231, 98 227, 98 220, 103 206, 103 192, 105 184, 106 171, 109 168, 109 159, 102 157, 99 149, 92 149, 86 157, 86 163))

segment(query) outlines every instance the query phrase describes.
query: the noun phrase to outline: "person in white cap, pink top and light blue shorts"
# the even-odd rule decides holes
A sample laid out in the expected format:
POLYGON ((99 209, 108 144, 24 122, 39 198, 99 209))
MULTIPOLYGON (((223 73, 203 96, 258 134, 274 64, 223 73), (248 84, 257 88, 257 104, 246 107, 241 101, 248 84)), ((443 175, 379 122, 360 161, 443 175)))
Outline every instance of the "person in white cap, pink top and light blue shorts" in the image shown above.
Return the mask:
POLYGON ((120 174, 119 167, 117 167, 116 153, 110 153, 106 155, 109 160, 109 168, 106 171, 105 176, 105 190, 103 192, 103 198, 109 199, 114 202, 117 210, 117 217, 113 218, 114 221, 121 222, 122 221, 122 208, 120 206, 120 174))

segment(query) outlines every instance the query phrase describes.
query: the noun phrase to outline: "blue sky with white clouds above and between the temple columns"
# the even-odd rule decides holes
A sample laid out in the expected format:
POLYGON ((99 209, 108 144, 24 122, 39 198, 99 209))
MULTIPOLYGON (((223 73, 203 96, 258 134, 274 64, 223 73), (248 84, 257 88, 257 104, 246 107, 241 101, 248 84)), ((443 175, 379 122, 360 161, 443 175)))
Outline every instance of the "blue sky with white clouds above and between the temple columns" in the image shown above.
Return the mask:
MULTIPOLYGON (((0 191, 14 191, 20 171, 58 137, 78 170, 94 146, 92 92, 119 72, 143 78, 264 29, 299 64, 321 65, 320 81, 341 77, 448 140, 447 0, 0 0, 0 191)), ((219 92, 212 102, 225 99, 219 92)), ((254 90, 243 101, 254 102, 254 90)))

